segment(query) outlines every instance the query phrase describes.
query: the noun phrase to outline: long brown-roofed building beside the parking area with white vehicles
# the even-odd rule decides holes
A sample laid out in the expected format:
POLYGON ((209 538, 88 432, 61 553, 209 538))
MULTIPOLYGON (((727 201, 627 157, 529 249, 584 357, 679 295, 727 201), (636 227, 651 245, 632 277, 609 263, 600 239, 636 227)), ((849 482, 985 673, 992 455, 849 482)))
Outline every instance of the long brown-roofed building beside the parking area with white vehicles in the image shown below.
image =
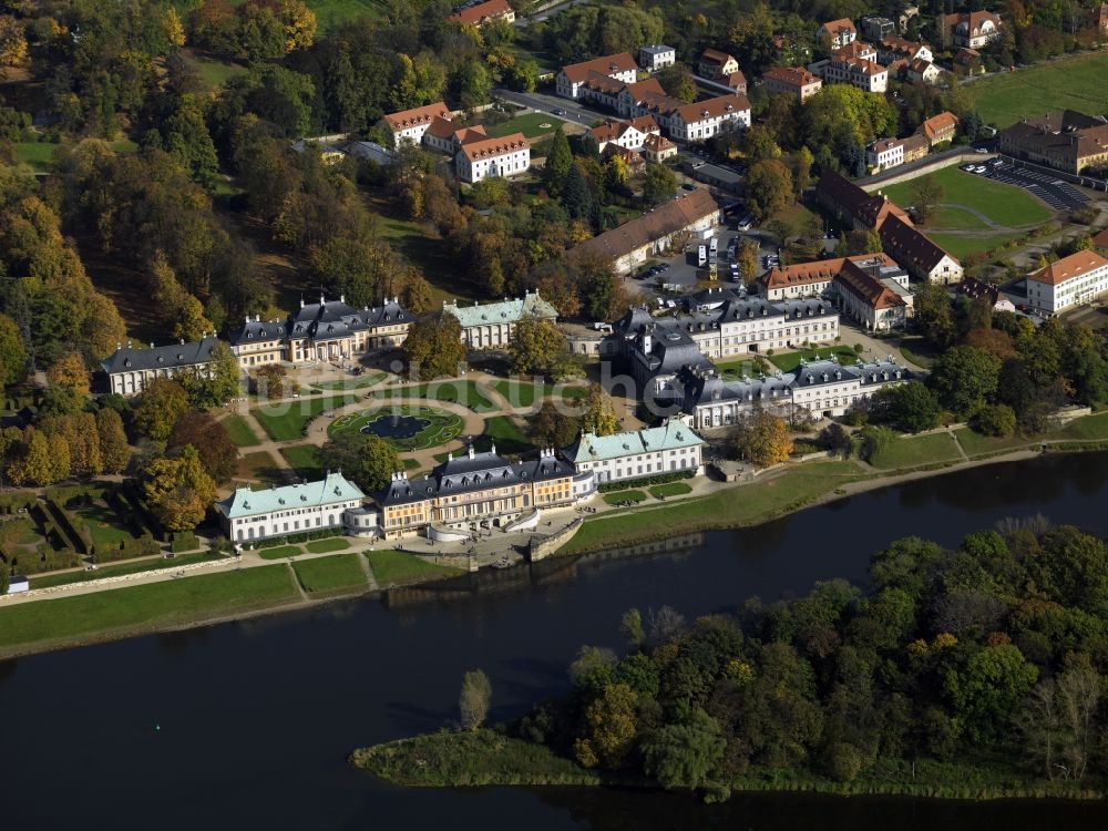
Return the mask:
POLYGON ((611 261, 617 274, 626 274, 656 254, 680 245, 694 234, 719 225, 719 205, 704 189, 685 193, 623 225, 586 239, 573 250, 611 261))

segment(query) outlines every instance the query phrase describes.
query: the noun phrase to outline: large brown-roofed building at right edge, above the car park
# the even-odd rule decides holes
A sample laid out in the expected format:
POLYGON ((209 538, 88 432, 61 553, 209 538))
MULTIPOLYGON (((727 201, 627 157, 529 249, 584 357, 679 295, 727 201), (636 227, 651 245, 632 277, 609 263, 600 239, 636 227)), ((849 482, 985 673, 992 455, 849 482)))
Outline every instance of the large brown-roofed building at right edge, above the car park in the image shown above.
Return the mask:
POLYGON ((1078 174, 1086 167, 1108 164, 1108 120, 1074 110, 1024 119, 999 133, 997 150, 1078 174))

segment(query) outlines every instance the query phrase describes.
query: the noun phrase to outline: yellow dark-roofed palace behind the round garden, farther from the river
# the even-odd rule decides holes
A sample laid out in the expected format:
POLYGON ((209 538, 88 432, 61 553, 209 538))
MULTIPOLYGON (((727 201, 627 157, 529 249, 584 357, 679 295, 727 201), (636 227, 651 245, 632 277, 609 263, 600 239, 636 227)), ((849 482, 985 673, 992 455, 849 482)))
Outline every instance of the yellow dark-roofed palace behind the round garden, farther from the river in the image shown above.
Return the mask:
POLYGON ((414 320, 396 297, 386 298, 380 306, 356 309, 342 296, 338 300, 320 296, 318 304, 301 300, 299 310, 286 320, 246 318, 228 342, 243 369, 278 361, 345 360, 402 345, 414 320))

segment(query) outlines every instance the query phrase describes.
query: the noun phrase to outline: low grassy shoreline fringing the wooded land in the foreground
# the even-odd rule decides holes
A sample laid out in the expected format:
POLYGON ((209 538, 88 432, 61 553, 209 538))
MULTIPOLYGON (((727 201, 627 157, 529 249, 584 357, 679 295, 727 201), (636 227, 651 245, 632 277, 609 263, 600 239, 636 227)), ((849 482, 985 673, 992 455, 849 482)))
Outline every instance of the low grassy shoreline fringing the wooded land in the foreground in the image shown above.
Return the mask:
MULTIPOLYGON (((633 773, 586 769, 544 745, 514 738, 504 727, 440 731, 355 750, 350 765, 407 788, 635 788, 661 787, 633 773)), ((737 776, 702 796, 719 801, 739 793, 822 793, 838 797, 911 797, 942 800, 1104 800, 1102 782, 1084 784, 1027 777, 987 759, 940 762, 884 759, 841 782, 793 768, 737 776)))

